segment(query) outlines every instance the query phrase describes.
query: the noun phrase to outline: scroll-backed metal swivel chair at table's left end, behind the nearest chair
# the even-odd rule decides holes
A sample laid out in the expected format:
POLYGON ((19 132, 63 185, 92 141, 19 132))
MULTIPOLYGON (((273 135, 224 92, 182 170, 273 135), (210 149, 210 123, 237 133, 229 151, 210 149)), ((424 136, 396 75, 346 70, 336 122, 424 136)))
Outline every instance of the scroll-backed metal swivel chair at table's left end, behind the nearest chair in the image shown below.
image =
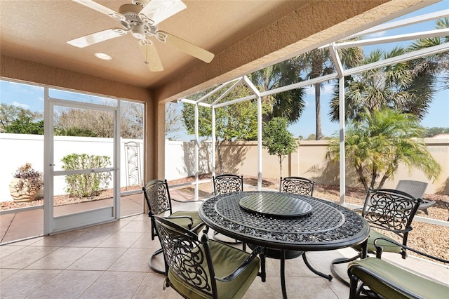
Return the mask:
MULTIPOLYGON (((167 180, 150 180, 142 187, 142 190, 145 196, 145 201, 147 201, 149 210, 148 215, 150 217, 152 213, 156 215, 166 215, 166 213, 168 213, 168 218, 176 222, 177 225, 181 225, 187 229, 191 229, 192 227, 196 227, 203 223, 199 217, 198 211, 177 211, 173 213, 167 180)), ((154 227, 152 222, 152 240, 154 240, 156 235, 156 227, 154 227)), ((159 270, 153 265, 153 258, 160 253, 162 253, 162 249, 154 251, 151 258, 149 258, 149 267, 154 270, 154 272, 164 274, 163 270, 159 270)))

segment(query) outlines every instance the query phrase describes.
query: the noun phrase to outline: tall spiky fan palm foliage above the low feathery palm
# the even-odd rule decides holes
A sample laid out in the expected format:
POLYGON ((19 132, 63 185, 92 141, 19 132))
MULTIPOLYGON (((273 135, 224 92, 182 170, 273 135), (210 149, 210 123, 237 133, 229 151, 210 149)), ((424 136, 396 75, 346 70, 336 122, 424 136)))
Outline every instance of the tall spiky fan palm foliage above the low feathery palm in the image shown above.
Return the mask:
MULTIPOLYGON (((406 54, 406 48, 396 47, 391 51, 377 49, 363 60, 363 65, 398 55, 406 54)), ((428 69, 417 70, 412 62, 387 65, 366 72, 354 74, 345 79, 346 121, 358 119, 365 109, 374 111, 390 107, 404 113, 410 113, 422 119, 427 114, 429 103, 435 92, 434 77, 428 69)), ((339 89, 334 88, 330 102, 332 121, 338 121, 339 89)))

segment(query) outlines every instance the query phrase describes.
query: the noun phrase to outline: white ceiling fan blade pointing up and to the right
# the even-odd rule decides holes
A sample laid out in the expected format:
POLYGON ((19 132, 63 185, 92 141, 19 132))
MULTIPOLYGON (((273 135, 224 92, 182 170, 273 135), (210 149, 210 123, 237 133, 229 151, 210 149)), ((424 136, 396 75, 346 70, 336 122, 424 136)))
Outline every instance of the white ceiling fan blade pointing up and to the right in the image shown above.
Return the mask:
POLYGON ((181 0, 151 0, 140 11, 139 18, 148 25, 157 25, 185 8, 187 6, 181 0))

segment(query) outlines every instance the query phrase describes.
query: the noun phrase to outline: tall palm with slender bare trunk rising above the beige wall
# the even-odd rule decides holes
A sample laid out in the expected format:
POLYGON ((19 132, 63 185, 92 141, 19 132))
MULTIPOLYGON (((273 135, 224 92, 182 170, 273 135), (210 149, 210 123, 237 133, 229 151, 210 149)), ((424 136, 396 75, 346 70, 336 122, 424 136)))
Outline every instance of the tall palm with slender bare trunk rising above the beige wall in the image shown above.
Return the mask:
MULTIPOLYGON (((363 52, 361 48, 344 48, 339 50, 342 65, 344 67, 354 67, 361 61, 363 52)), ((330 59, 328 48, 319 48, 304 53, 297 57, 303 69, 309 69, 306 75, 307 79, 314 79, 335 72, 335 66, 330 59)), ((315 114, 316 114, 316 140, 320 140, 323 135, 321 132, 321 88, 325 82, 314 84, 315 88, 315 114)))

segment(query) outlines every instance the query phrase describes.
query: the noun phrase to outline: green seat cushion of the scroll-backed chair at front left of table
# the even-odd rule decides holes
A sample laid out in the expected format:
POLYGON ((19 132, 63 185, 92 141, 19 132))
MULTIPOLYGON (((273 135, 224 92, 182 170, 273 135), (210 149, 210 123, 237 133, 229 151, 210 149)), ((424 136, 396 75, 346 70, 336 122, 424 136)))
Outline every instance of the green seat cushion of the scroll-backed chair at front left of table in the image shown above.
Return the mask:
MULTIPOLYGON (((246 258, 248 258, 249 255, 240 249, 213 240, 209 240, 209 246, 216 277, 226 277, 231 274, 244 260, 246 260, 246 258)), ((205 274, 208 275, 206 260, 203 260, 202 266, 207 272, 205 274)), ((241 298, 253 283, 257 276, 257 272, 259 272, 259 267, 260 259, 255 258, 251 261, 246 270, 236 279, 228 282, 217 281, 217 298, 241 298)), ((184 280, 180 279, 180 277, 177 277, 171 269, 168 270, 168 279, 170 280, 170 284, 173 285, 173 288, 182 293, 185 298, 194 299, 212 297, 211 294, 202 293, 201 291, 196 290, 192 285, 187 284, 184 280)))

